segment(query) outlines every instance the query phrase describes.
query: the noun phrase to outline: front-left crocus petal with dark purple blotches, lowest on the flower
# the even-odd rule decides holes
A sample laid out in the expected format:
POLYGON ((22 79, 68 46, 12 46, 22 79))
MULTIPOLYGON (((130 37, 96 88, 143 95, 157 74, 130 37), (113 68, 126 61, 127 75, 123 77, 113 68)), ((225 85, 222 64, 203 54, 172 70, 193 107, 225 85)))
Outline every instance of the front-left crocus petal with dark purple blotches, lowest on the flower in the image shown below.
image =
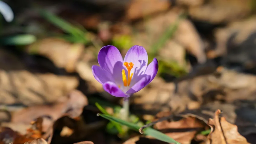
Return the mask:
POLYGON ((115 83, 108 81, 103 84, 103 89, 115 97, 129 97, 115 83))

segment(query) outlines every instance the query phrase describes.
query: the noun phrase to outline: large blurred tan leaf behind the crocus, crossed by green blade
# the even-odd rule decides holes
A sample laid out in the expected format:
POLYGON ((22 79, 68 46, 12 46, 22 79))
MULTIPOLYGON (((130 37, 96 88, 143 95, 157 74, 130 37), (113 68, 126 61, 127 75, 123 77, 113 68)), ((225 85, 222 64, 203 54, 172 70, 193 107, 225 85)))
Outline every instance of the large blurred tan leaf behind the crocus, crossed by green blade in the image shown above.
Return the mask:
MULTIPOLYGON (((168 28, 174 26, 179 19, 180 9, 172 9, 164 14, 154 16, 148 20, 139 23, 142 25, 144 32, 137 33, 132 37, 132 42, 137 45, 142 45, 147 50, 150 50, 168 28)), ((141 30, 140 30, 141 31, 141 30)), ((161 48, 160 53, 165 60, 175 60, 180 66, 185 66, 185 50, 193 54, 200 63, 206 61, 204 53, 204 44, 197 33, 194 25, 187 19, 179 20, 177 30, 173 38, 167 40, 161 48), (169 51, 168 53, 165 53, 169 51)))

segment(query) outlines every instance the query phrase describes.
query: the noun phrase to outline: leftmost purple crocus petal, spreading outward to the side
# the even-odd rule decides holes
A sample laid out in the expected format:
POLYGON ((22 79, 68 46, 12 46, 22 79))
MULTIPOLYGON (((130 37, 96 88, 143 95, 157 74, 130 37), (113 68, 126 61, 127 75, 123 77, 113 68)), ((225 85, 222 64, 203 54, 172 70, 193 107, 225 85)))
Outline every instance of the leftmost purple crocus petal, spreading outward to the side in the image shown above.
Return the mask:
POLYGON ((112 75, 99 66, 92 66, 92 74, 94 78, 101 84, 104 84, 107 81, 114 81, 112 75))

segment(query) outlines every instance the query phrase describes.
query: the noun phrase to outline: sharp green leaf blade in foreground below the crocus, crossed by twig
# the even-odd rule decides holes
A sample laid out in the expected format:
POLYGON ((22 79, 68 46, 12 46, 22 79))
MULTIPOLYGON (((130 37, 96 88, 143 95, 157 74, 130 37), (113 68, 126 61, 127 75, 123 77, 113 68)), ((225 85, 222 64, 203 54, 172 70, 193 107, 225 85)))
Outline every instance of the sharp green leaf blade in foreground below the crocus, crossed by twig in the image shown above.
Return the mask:
MULTIPOLYGON (((108 119, 110 121, 117 122, 119 124, 125 125, 125 126, 131 128, 131 129, 135 130, 135 131, 138 131, 140 129, 140 126, 138 126, 136 124, 133 124, 133 123, 130 123, 130 122, 112 117, 110 115, 105 115, 105 114, 98 114, 98 115, 105 118, 105 119, 108 119)), ((170 138, 169 136, 165 135, 164 133, 162 133, 160 131, 157 131, 157 130, 155 130, 153 128, 150 128, 150 127, 145 129, 144 134, 148 135, 148 136, 152 136, 152 137, 154 137, 158 140, 164 141, 164 142, 180 144, 179 142, 175 141, 174 139, 170 138)))

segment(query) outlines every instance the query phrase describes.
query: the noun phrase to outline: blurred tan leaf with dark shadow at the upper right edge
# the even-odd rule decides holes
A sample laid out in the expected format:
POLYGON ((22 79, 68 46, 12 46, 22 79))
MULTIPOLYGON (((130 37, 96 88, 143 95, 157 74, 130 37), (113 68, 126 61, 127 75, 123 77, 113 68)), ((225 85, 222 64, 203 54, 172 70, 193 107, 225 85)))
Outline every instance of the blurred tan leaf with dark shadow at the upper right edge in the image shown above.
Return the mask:
POLYGON ((230 64, 235 63, 236 69, 255 73, 255 24, 256 17, 253 16, 233 22, 227 27, 218 28, 215 31, 217 47, 209 55, 224 56, 223 66, 225 67, 231 67, 230 64))

